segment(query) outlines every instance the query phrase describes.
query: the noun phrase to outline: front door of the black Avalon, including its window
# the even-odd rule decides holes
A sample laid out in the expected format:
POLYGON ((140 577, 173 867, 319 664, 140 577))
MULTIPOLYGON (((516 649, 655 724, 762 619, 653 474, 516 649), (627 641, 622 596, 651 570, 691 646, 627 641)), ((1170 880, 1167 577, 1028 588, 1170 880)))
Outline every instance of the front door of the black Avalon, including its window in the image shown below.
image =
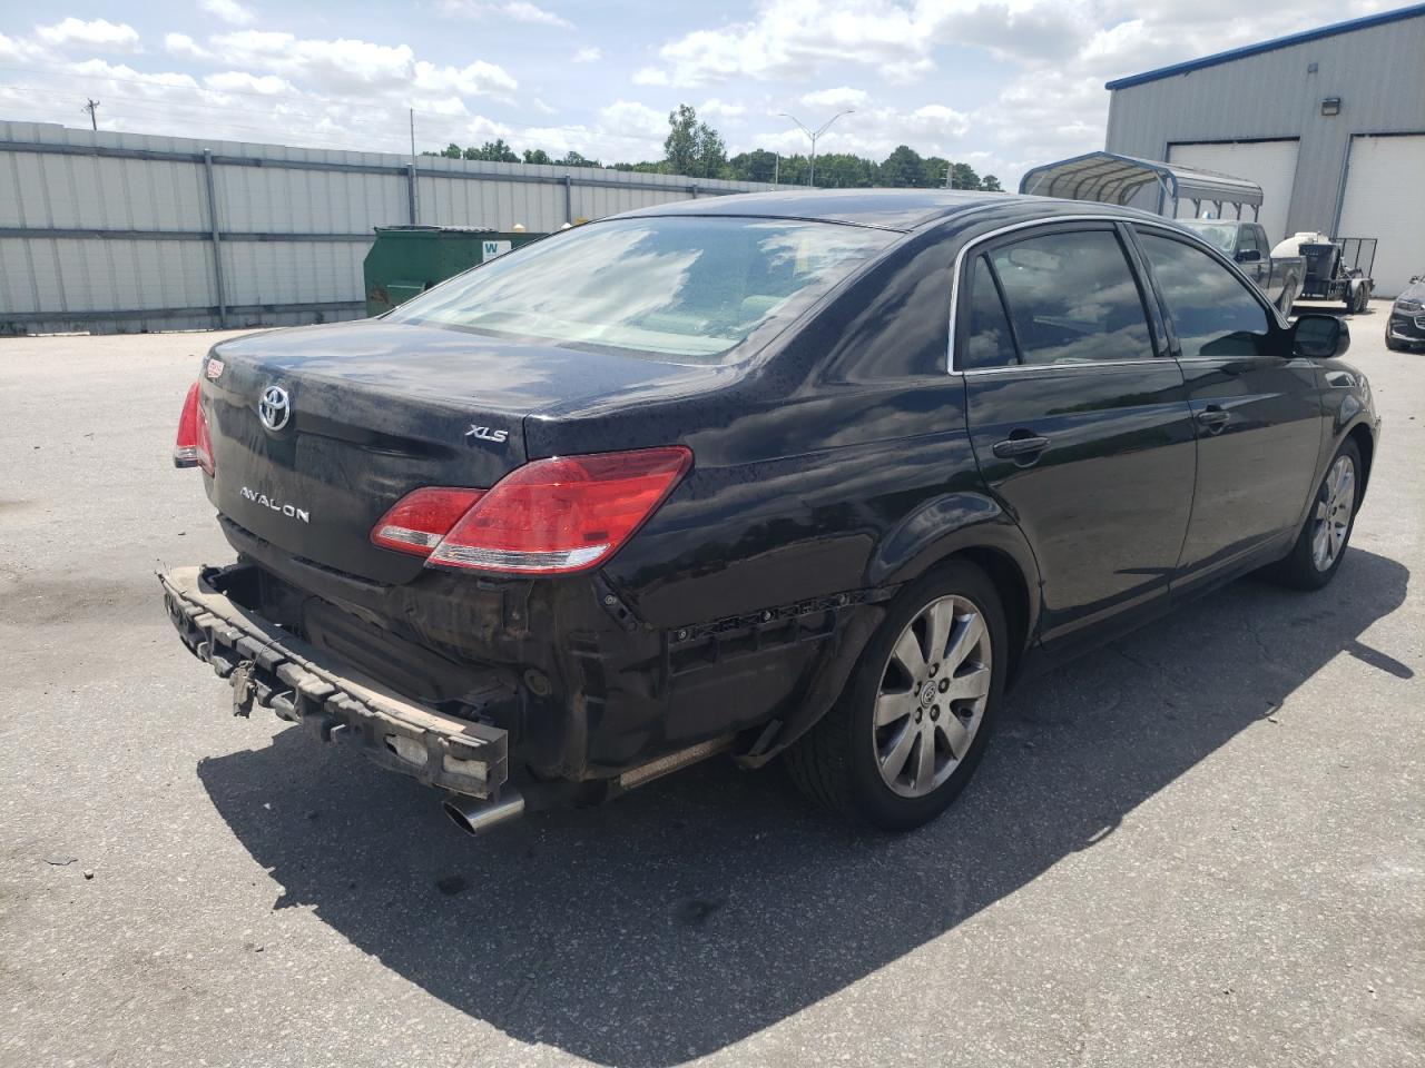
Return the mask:
POLYGON ((1197 433, 1197 494, 1180 561, 1191 582, 1295 531, 1321 449, 1318 372, 1292 357, 1288 332, 1226 263, 1173 231, 1136 229, 1197 433))

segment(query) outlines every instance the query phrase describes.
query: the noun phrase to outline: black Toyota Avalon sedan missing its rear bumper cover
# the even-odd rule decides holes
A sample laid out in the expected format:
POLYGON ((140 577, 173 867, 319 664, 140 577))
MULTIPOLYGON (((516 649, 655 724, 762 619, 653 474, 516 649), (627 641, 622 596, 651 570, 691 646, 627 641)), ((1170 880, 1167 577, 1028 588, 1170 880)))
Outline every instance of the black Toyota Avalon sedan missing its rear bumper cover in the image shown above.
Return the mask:
POLYGON ((650 208, 217 345, 175 461, 238 560, 165 602, 238 711, 467 830, 724 752, 908 829, 1036 664, 1331 581, 1379 429, 1347 345, 1129 209, 650 208))

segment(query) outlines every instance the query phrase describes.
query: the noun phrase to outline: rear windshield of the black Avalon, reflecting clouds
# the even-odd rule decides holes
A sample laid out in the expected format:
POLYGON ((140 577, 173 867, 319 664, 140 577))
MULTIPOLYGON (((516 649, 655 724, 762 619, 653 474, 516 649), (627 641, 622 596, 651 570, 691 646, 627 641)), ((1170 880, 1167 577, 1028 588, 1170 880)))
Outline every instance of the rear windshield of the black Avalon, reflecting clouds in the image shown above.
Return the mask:
POLYGON ((636 218, 594 222, 422 293, 392 322, 722 363, 898 234, 828 222, 636 218))

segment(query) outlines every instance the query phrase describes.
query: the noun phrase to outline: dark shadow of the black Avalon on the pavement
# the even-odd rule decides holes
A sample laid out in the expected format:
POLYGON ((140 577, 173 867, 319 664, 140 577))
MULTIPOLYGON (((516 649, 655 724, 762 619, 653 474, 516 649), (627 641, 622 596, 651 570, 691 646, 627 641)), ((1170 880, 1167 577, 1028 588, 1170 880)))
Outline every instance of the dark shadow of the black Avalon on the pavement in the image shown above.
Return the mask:
POLYGON ((523 1042, 661 1068, 720 1049, 895 961, 1112 834, 1124 815, 1340 654, 1398 678, 1367 628, 1409 572, 1352 550, 1328 592, 1247 580, 1006 706, 933 824, 858 833, 778 770, 714 762, 604 809, 467 839, 430 790, 284 729, 204 760, 217 810, 353 946, 523 1042))

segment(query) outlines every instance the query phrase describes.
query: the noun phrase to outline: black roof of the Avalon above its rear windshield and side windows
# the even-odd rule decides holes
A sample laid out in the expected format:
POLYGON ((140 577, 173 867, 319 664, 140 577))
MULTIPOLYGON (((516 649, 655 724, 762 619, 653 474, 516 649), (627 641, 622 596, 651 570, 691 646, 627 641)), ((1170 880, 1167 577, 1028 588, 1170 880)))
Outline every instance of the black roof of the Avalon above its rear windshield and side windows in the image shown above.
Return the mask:
POLYGON ((963 189, 778 189, 777 192, 700 197, 690 201, 658 204, 623 212, 618 218, 722 215, 846 222, 859 226, 912 231, 953 216, 965 216, 965 221, 969 222, 985 214, 1006 219, 1035 219, 1086 212, 1123 216, 1124 219, 1163 221, 1161 216, 1113 204, 963 189))

